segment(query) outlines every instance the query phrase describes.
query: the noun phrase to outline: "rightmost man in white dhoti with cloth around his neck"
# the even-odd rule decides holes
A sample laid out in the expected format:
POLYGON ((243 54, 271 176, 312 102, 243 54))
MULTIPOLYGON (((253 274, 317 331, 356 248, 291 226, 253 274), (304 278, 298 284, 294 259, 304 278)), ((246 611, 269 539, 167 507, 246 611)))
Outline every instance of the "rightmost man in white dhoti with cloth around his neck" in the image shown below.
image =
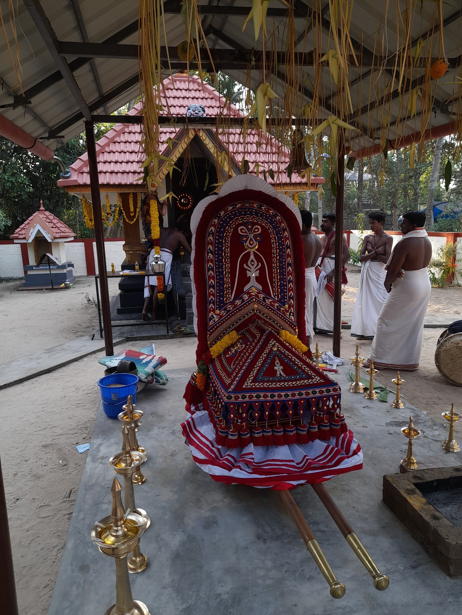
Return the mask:
POLYGON ((431 243, 424 230, 425 214, 403 215, 402 239, 387 263, 388 296, 381 309, 367 365, 413 371, 419 367, 424 318, 430 300, 428 263, 431 243))

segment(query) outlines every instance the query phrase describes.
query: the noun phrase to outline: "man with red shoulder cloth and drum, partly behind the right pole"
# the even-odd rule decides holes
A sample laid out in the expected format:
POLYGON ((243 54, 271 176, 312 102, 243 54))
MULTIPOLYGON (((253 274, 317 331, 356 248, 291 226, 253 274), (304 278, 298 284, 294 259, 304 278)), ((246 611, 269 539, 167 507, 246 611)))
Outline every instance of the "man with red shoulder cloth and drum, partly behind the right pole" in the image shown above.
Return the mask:
MULTIPOLYGON (((313 328, 315 333, 333 333, 334 328, 334 273, 335 273, 335 214, 322 216, 321 237, 322 253, 315 274, 317 279, 314 300, 313 328)), ((350 250, 342 234, 342 284, 347 284, 346 263, 350 250)))

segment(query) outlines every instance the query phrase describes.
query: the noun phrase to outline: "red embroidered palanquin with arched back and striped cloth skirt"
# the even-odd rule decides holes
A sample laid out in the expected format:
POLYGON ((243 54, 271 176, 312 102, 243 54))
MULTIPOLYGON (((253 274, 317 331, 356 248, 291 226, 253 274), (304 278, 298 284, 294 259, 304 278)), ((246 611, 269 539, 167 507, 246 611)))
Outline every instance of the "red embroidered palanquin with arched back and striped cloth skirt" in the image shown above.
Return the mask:
POLYGON ((182 429, 214 480, 285 490, 360 469, 337 383, 306 346, 296 205, 241 175, 191 220, 197 370, 182 429))

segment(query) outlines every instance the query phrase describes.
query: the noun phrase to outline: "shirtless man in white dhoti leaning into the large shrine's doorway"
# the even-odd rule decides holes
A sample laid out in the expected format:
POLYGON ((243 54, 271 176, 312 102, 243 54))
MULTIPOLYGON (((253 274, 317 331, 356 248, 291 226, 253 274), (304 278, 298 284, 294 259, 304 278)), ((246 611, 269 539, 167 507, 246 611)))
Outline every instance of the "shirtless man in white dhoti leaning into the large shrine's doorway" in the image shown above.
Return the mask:
MULTIPOLYGON (((160 212, 161 213, 161 212, 160 212)), ((160 226, 160 255, 161 259, 165 262, 165 284, 166 288, 164 289, 164 293, 168 293, 168 291, 172 287, 172 276, 171 276, 171 265, 173 253, 182 245, 185 252, 188 254, 191 253, 191 247, 188 244, 184 234, 176 228, 164 228, 163 226, 163 216, 159 215, 159 226, 160 226)), ((147 270, 150 270, 151 263, 153 262, 155 255, 155 250, 151 250, 149 255, 147 270)), ((148 320, 148 304, 150 301, 150 296, 152 294, 152 314, 151 320, 155 320, 155 314, 158 304, 158 288, 157 288, 157 277, 156 276, 146 276, 146 282, 144 287, 144 307, 142 312, 142 319, 148 320)))

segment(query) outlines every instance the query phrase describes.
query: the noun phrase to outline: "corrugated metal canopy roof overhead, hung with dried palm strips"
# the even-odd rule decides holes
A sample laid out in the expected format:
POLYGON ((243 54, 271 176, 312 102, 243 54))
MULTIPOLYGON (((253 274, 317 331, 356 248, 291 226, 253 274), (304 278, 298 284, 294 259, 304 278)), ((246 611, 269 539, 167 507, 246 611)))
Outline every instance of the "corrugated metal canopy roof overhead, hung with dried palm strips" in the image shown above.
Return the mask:
MULTIPOLYGON (((71 2, 68 0, 42 0, 41 4, 59 41, 82 41, 82 36, 71 2)), ((234 4, 234 0, 221 0, 220 4, 221 6, 227 6, 228 4, 234 4)), ((437 14, 437 4, 437 2, 413 3, 413 11, 415 14, 415 18, 411 24, 411 39, 413 41, 416 41, 421 34, 426 33, 435 24, 437 25, 437 18, 435 17, 437 14)), ((274 8, 285 6, 279 0, 272 1, 270 5, 274 8)), ((105 41, 105 39, 113 36, 129 24, 136 22, 138 18, 139 6, 138 3, 133 0, 98 0, 97 2, 94 0, 80 0, 79 6, 83 15, 87 35, 91 42, 105 41)), ((249 2, 241 2, 239 6, 245 6, 250 9, 251 5, 249 2)), ((301 6, 307 5, 302 4, 301 6)), ((327 10, 327 0, 322 2, 321 6, 323 8, 325 23, 322 31, 321 47, 322 51, 325 52, 327 47, 331 46, 328 37, 329 12, 327 10)), ((6 22, 9 20, 9 16, 6 14, 7 7, 7 2, 1 4, 6 22)), ((402 4, 402 8, 404 7, 405 5, 402 4)), ((458 18, 460 9, 461 5, 459 1, 450 0, 442 3, 443 17, 444 20, 448 22, 444 28, 445 51, 448 57, 456 57, 462 54, 462 20, 458 18), (454 18, 452 18, 453 15, 455 15, 454 18)), ((400 19, 401 18, 402 16, 400 19)), ((376 42, 380 41, 381 49, 376 49, 376 52, 380 54, 385 53, 391 56, 391 54, 395 52, 397 46, 395 37, 396 19, 395 9, 391 9, 391 5, 389 5, 388 2, 355 0, 350 34, 352 38, 357 41, 362 41, 364 46, 370 51, 373 51, 376 42), (385 24, 387 25, 386 36, 384 35, 385 24), (382 35, 383 38, 381 38, 382 35)), ((242 32, 244 21, 245 17, 236 15, 203 17, 203 26, 205 30, 207 30, 208 26, 213 26, 213 31, 208 33, 209 46, 222 49, 228 49, 229 47, 234 47, 236 49, 261 48, 261 36, 256 44, 251 23, 249 23, 245 32, 242 32), (215 36, 215 34, 217 34, 217 36, 215 36)), ((313 49, 316 46, 315 32, 311 29, 312 24, 310 17, 307 22, 297 18, 294 23, 296 35, 300 41, 298 50, 307 51, 313 49), (305 32, 307 32, 306 38, 305 32)), ((286 46, 285 26, 285 18, 269 18, 268 20, 270 36, 273 32, 275 33, 280 49, 285 49, 286 46)), ((39 34, 23 2, 17 3, 16 29, 18 33, 20 65, 22 67, 23 91, 28 92, 32 87, 40 84, 43 79, 55 73, 57 71, 57 66, 55 66, 52 56, 49 50, 47 50, 43 38, 39 34)), ((166 15, 166 31, 168 44, 170 46, 176 46, 184 39, 185 30, 180 15, 166 15)), ((10 33, 8 23, 7 33, 14 54, 14 39, 10 33)), ((439 50, 437 33, 434 34, 433 39, 437 54, 439 50)), ((426 41, 426 44, 429 44, 429 41, 430 38, 426 41)), ((137 32, 135 30, 132 31, 129 36, 126 36, 126 38, 120 42, 136 44, 137 32)), ((206 57, 205 51, 203 51, 203 57, 206 57)), ((68 58, 71 64, 74 60, 75 58, 68 58)), ((120 86, 116 95, 114 95, 113 98, 111 98, 111 95, 111 100, 106 101, 110 112, 120 108, 121 105, 132 100, 139 93, 137 60, 97 58, 94 62, 104 93, 110 93, 111 90, 120 86)), ((3 39, 0 41, 0 67, 0 78, 4 80, 4 87, 0 92, 0 104, 7 104, 11 103, 13 100, 11 92, 14 92, 16 95, 20 95, 21 92, 17 84, 14 70, 11 66, 6 42, 3 39)), ((216 68, 219 69, 220 67, 216 66, 216 68)), ((278 68, 282 72, 285 71, 284 66, 279 66, 278 68)), ((456 71, 458 71, 458 69, 456 69, 456 71)), ((435 83, 434 95, 437 101, 442 101, 444 103, 444 101, 447 101, 457 89, 457 86, 450 83, 451 81, 455 81, 454 76, 456 71, 448 71, 447 78, 439 79, 439 81, 435 83)), ((227 72, 241 83, 246 83, 245 68, 241 71, 227 72)), ((421 76, 423 72, 423 68, 414 68, 412 78, 414 79, 415 77, 421 76)), ((322 73, 323 92, 325 97, 329 98, 334 96, 335 88, 332 87, 328 68, 323 68, 322 73)), ((371 100, 375 100, 378 96, 378 80, 381 82, 380 92, 383 93, 384 84, 391 79, 390 75, 383 70, 379 77, 378 71, 373 71, 373 77, 370 79, 368 76, 368 74, 370 74, 370 69, 366 66, 362 69, 352 67, 349 73, 353 82, 355 82, 359 74, 362 74, 360 87, 359 84, 352 85, 351 87, 354 108, 356 106, 365 105, 371 100)), ((261 71, 259 69, 250 70, 249 74, 251 80, 250 85, 254 88, 261 82, 261 71)), ((300 74, 301 86, 309 89, 311 87, 309 77, 314 76, 314 68, 310 66, 301 68, 300 74)), ((100 99, 99 90, 89 62, 75 69, 74 76, 87 103, 90 104, 100 99)), ((278 78, 270 77, 270 79, 277 92, 282 93, 284 90, 284 82, 281 75, 278 78)), ((55 81, 46 89, 43 87, 39 89, 41 90, 40 92, 34 92, 33 95, 31 95, 31 105, 28 105, 26 111, 22 107, 19 107, 16 109, 2 109, 2 113, 12 122, 20 125, 26 132, 31 133, 34 137, 46 136, 49 129, 51 129, 52 133, 56 134, 55 130, 59 129, 60 134, 64 135, 64 140, 68 140, 83 130, 82 120, 71 119, 78 113, 79 109, 70 90, 62 79, 55 81), (63 123, 65 124, 64 127, 63 123)), ((460 93, 458 97, 460 98, 460 93)), ((301 99, 304 101, 308 100, 306 92, 301 93, 301 99)), ((396 136, 395 119, 402 116, 403 109, 400 108, 400 101, 397 98, 392 100, 390 106, 392 125, 389 138, 393 139, 396 136)), ((102 110, 102 103, 97 109, 94 109, 94 111, 102 110)), ((417 111, 419 113, 419 101, 417 111)), ((326 115, 329 113, 328 109, 325 113, 326 115)), ((431 124, 433 126, 447 124, 451 117, 452 114, 450 113, 450 109, 448 110, 447 106, 443 104, 440 110, 437 110, 434 116, 432 116, 431 124)), ((367 113, 363 114, 361 117, 362 124, 368 124, 369 127, 373 129, 378 128, 381 121, 382 114, 380 108, 370 113, 369 117, 367 113)), ((399 130, 402 130, 402 128, 399 128, 399 130)), ((415 121, 407 122, 404 130, 405 133, 420 130, 419 118, 417 117, 415 121)), ((373 137, 362 137, 359 145, 370 145, 373 141, 373 137)), ((45 141, 45 143, 51 146, 51 148, 57 145, 56 140, 45 141)))

